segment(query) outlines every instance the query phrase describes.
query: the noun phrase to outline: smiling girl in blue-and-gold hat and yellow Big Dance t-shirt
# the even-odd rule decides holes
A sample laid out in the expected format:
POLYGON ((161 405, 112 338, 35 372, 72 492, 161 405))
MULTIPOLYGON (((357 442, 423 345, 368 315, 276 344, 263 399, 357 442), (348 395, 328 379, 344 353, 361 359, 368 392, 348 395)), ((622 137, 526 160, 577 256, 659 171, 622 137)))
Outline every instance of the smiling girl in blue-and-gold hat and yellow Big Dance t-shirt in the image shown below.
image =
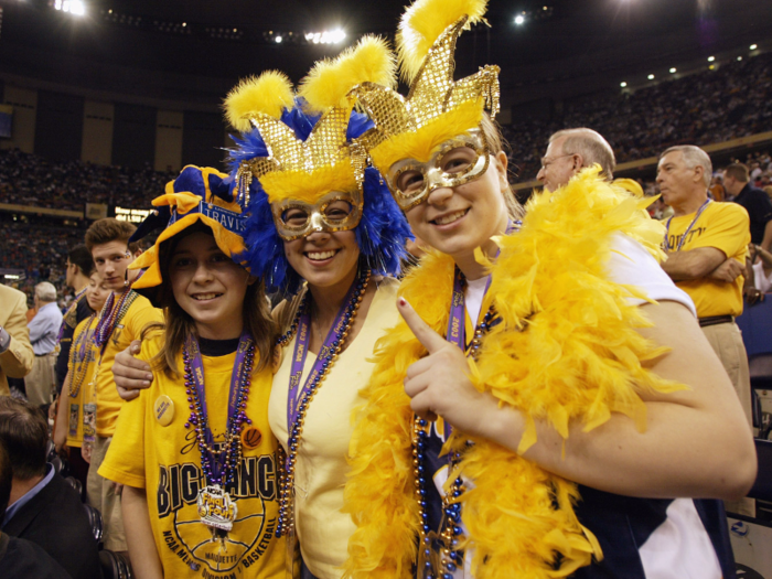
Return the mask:
POLYGON ((283 577, 278 443, 268 426, 276 325, 234 256, 246 216, 227 175, 185 167, 138 230, 165 226, 131 268, 164 310, 139 357, 152 386, 121 409, 99 473, 124 484, 138 578, 283 577))

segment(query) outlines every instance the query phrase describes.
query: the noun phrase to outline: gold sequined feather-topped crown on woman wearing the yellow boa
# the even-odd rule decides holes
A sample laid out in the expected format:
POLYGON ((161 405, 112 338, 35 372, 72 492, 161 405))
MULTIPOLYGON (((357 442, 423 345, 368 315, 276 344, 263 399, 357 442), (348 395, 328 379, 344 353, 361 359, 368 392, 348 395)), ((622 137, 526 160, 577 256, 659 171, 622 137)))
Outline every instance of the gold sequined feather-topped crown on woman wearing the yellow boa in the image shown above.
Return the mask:
POLYGON ((486 0, 417 0, 397 35, 401 74, 410 83, 407 98, 374 83, 354 90, 376 126, 368 148, 382 173, 399 159, 427 161, 437 146, 475 128, 485 108, 492 116, 498 111, 497 66, 453 81, 455 42, 484 21, 485 8, 486 0))

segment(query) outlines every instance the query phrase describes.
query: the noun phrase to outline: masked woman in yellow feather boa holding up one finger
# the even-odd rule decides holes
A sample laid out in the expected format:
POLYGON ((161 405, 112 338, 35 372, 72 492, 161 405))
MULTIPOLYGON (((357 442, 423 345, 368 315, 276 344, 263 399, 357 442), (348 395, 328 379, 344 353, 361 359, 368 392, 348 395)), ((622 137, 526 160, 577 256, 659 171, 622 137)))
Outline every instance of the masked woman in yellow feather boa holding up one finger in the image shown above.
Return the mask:
POLYGON ((498 71, 452 77, 484 11, 419 0, 398 35, 409 96, 357 89, 373 163, 433 250, 363 393, 346 575, 733 577, 721 503, 683 497, 751 486, 737 396, 639 197, 589 170, 517 230, 484 112, 498 71))

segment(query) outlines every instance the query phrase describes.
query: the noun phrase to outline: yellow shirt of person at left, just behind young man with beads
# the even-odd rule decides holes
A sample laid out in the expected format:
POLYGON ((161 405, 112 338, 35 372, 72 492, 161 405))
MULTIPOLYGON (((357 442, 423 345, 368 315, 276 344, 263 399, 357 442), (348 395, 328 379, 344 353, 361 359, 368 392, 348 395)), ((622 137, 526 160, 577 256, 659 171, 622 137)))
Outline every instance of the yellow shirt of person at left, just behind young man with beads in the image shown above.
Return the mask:
POLYGON ((69 396, 67 409, 67 446, 83 446, 83 405, 86 403, 88 385, 96 372, 99 350, 94 344, 94 330, 97 315, 89 315, 75 328, 73 346, 69 350, 67 374, 69 375, 69 396))

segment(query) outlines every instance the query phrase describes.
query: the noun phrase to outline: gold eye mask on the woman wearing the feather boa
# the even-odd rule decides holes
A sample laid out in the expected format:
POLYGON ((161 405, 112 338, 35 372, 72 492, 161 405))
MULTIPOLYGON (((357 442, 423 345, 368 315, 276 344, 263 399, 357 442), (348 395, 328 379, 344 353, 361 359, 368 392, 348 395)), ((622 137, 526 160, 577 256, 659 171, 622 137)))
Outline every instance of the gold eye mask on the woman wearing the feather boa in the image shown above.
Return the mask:
POLYGON ((388 170, 386 183, 403 211, 421 203, 439 187, 454 187, 478 179, 490 163, 482 130, 473 129, 444 141, 429 161, 397 161, 388 170))

